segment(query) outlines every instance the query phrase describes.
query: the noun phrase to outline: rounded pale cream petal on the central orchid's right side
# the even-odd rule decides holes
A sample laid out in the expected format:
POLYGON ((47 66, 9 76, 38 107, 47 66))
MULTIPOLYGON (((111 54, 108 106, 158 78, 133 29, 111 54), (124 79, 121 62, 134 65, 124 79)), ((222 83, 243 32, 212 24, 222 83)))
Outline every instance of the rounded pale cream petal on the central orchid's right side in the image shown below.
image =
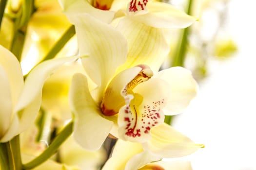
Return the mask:
POLYGON ((164 108, 165 115, 182 113, 190 101, 197 95, 198 85, 191 71, 181 67, 159 71, 156 77, 169 84, 168 104, 164 108))

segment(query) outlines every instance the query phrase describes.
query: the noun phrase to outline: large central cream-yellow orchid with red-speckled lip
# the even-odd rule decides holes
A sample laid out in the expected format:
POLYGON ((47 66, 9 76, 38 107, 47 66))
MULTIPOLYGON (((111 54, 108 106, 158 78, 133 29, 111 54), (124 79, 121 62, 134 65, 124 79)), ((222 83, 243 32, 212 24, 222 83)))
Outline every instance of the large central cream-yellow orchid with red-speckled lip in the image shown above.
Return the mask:
POLYGON ((195 97, 197 83, 190 71, 157 73, 169 51, 161 29, 125 18, 115 29, 108 24, 111 11, 87 1, 62 0, 62 7, 75 25, 79 54, 90 55, 81 61, 97 85, 89 90, 87 77, 76 74, 70 88, 74 136, 81 146, 98 149, 110 131, 124 140, 145 142, 150 129, 163 122, 164 109, 167 115, 178 114, 195 97))

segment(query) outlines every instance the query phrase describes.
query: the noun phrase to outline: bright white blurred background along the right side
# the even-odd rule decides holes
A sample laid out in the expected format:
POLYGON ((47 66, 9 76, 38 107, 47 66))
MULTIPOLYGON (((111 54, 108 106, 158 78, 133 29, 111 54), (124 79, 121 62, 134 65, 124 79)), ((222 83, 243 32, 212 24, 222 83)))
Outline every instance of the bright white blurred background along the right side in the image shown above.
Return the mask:
MULTIPOLYGON (((225 59, 207 59, 205 77, 197 76, 197 98, 172 122, 197 143, 205 143, 204 149, 182 158, 191 160, 194 170, 256 170, 256 1, 229 0, 226 5, 219 29, 236 50, 225 59)), ((218 22, 211 18, 209 23, 206 36, 218 22)))

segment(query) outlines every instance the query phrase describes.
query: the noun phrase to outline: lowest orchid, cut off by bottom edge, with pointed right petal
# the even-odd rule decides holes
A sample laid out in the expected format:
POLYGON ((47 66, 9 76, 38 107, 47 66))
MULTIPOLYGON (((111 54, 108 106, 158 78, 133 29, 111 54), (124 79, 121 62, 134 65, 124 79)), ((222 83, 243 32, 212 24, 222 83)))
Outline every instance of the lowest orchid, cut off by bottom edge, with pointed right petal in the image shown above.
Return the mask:
MULTIPOLYGON (((165 123, 152 128, 151 134, 152 138, 143 144, 118 139, 112 156, 104 165, 103 170, 154 170, 152 168, 165 166, 173 166, 174 168, 178 163, 155 161, 159 161, 161 158, 185 156, 204 146, 203 144, 195 144, 187 136, 165 123), (151 147, 148 147, 149 145, 151 147), (151 162, 155 163, 151 164, 151 162)), ((179 168, 182 167, 178 166, 179 168)), ((189 164, 183 164, 183 167, 184 170, 191 168, 189 164)))

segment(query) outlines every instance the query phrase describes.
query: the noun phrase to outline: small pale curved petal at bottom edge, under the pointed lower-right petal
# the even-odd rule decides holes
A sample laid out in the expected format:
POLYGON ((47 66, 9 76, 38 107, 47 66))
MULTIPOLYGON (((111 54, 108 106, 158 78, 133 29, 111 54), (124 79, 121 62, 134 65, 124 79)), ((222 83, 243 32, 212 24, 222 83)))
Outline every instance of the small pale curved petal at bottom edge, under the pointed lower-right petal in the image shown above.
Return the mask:
POLYGON ((148 151, 144 151, 142 153, 138 153, 134 155, 126 164, 125 170, 138 170, 143 165, 147 163, 158 161, 161 158, 159 156, 154 156, 150 154, 148 151))

